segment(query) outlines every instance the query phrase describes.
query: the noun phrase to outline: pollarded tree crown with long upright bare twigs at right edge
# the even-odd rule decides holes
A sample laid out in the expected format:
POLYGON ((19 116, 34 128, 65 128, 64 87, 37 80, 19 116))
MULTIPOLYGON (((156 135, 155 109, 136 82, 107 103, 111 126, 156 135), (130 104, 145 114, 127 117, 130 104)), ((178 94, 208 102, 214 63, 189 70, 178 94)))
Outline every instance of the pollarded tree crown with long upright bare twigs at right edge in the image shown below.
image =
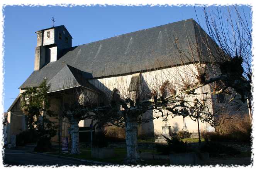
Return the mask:
POLYGON ((203 75, 203 79, 212 75, 212 79, 221 84, 214 94, 229 93, 232 88, 239 94, 239 100, 250 101, 253 57, 250 14, 237 6, 226 7, 226 10, 216 7, 213 11, 203 8, 203 12, 205 23, 202 25, 207 28, 208 35, 200 30, 201 24, 197 25, 201 33, 198 37, 201 47, 191 45, 209 60, 208 67, 205 67, 208 75, 203 75))

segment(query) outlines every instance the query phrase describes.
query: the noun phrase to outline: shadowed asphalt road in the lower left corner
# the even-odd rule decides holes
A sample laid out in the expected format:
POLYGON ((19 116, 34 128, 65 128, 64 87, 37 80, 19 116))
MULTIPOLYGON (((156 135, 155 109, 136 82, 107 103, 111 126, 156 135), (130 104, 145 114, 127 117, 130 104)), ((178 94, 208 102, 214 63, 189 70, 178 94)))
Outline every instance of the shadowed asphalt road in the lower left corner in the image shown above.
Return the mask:
POLYGON ((3 155, 3 165, 10 167, 13 165, 32 165, 32 166, 79 166, 79 165, 100 165, 92 162, 72 160, 69 158, 54 157, 30 153, 29 150, 5 149, 3 155))

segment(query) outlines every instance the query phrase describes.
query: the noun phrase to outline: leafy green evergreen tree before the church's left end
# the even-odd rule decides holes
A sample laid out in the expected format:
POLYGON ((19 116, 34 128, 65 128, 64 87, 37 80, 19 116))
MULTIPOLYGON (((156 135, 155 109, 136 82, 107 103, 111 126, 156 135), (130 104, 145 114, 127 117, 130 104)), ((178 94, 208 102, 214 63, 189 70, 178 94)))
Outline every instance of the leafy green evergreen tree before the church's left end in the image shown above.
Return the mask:
MULTIPOLYGON (((47 152, 51 150, 51 138, 56 135, 56 125, 47 118, 56 117, 56 113, 50 110, 49 91, 51 85, 47 85, 44 79, 39 88, 27 88, 22 93, 21 110, 27 116, 27 123, 30 133, 34 137, 31 141, 37 140, 35 151, 47 152), (47 115, 47 116, 46 116, 47 115), (36 117, 36 119, 35 119, 36 117)), ((22 136, 21 136, 22 137, 22 136)), ((23 136, 25 140, 26 136, 23 136)), ((22 139, 19 139, 20 141, 22 139)))

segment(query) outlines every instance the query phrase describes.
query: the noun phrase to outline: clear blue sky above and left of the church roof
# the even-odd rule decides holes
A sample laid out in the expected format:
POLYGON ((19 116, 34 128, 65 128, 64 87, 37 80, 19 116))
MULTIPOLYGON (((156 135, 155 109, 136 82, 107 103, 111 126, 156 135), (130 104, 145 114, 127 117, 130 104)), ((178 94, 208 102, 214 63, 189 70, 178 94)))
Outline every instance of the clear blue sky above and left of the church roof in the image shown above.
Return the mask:
MULTIPOLYGON (((208 10, 216 7, 210 7, 208 10)), ((244 6, 246 13, 251 8, 244 6)), ((196 7, 203 24, 203 10, 196 7)), ((4 111, 19 94, 19 87, 34 71, 36 31, 65 25, 72 46, 116 35, 164 25, 189 18, 196 19, 194 7, 21 7, 4 8, 4 111)), ((203 25, 202 25, 203 27, 203 25)), ((204 27, 203 27, 204 28, 204 27)))

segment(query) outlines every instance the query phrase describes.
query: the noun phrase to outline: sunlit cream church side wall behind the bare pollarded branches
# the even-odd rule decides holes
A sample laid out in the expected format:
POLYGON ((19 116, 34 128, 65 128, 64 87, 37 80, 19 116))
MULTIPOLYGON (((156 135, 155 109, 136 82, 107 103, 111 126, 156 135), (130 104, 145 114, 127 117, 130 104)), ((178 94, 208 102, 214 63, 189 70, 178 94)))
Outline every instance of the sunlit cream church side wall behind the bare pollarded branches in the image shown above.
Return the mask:
MULTIPOLYGON (((185 78, 187 81, 195 83, 197 80, 195 79, 195 73, 197 72, 196 67, 194 65, 186 65, 180 67, 173 67, 173 68, 166 68, 162 70, 156 70, 151 72, 142 73, 142 88, 145 93, 153 92, 156 90, 159 92, 160 87, 163 85, 165 81, 170 81, 173 84, 176 84, 175 89, 181 89, 182 78, 185 78)), ((118 77, 109 77, 109 78, 101 78, 101 79, 94 79, 90 80, 90 83, 95 85, 98 89, 107 92, 110 96, 111 91, 114 88, 119 90, 120 96, 125 98, 129 96, 129 92, 127 92, 130 82, 131 82, 132 75, 124 75, 118 77)), ((210 92, 210 86, 207 85, 203 88, 199 88, 196 92, 200 93, 200 95, 196 95, 197 98, 205 98, 206 95, 203 96, 202 92, 207 90, 210 92)), ((178 90, 177 90, 178 92, 178 90)), ((195 97, 194 97, 195 98, 195 97)), ((207 97, 209 98, 209 96, 207 97)), ((193 97, 191 98, 193 101, 193 97)), ((209 101, 209 108, 212 111, 212 101, 209 101)), ((155 114, 153 111, 148 111, 147 114, 143 115, 144 117, 152 117, 155 114)), ((180 131, 183 128, 183 117, 177 116, 175 118, 168 117, 168 123, 171 126, 172 131, 180 131)), ((159 135, 162 133, 162 125, 163 125, 163 118, 155 119, 149 123, 142 123, 139 125, 138 128, 138 135, 145 135, 145 136, 152 136, 152 135, 159 135)), ((188 131, 191 133, 197 132, 197 122, 191 120, 189 117, 186 118, 186 126, 188 131)), ((202 123, 200 122, 201 130, 207 130, 210 125, 209 123, 202 123)), ((212 129, 212 128, 211 128, 212 129)))

